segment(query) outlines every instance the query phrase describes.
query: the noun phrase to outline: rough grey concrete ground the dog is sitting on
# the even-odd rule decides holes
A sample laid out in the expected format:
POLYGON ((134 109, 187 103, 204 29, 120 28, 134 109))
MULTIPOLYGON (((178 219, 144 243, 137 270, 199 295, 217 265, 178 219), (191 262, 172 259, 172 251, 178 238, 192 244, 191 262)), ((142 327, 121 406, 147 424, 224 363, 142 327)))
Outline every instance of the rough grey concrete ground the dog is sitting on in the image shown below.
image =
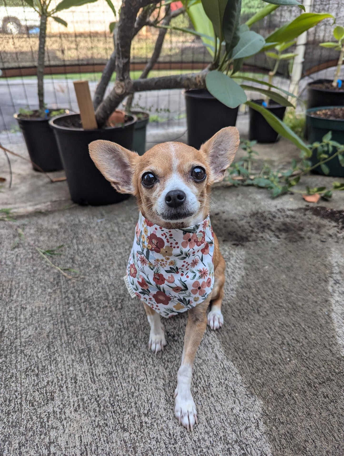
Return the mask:
MULTIPOLYGON (((286 141, 259 147, 272 165, 297 154, 286 141)), ((13 187, 0 193, 17 214, 0 222, 0 454, 344 454, 344 192, 310 205, 214 189, 225 323, 207 328, 196 355, 191 434, 173 412, 186 316, 164 321, 168 345, 154 355, 122 280, 134 199, 70 207, 65 181, 12 165, 13 187), (50 259, 76 280, 36 249, 61 244, 50 259)))

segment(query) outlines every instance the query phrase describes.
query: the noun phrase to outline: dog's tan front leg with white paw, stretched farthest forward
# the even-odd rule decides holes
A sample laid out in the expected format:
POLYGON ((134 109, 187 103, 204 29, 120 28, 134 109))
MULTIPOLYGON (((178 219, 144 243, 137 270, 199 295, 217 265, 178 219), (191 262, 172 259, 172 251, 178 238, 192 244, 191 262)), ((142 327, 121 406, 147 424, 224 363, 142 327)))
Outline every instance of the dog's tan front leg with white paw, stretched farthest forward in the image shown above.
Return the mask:
POLYGON ((182 424, 187 430, 192 430, 193 425, 197 423, 196 405, 191 394, 192 365, 206 330, 206 310, 209 301, 210 299, 207 299, 189 311, 181 365, 177 375, 175 416, 178 418, 179 424, 182 424))

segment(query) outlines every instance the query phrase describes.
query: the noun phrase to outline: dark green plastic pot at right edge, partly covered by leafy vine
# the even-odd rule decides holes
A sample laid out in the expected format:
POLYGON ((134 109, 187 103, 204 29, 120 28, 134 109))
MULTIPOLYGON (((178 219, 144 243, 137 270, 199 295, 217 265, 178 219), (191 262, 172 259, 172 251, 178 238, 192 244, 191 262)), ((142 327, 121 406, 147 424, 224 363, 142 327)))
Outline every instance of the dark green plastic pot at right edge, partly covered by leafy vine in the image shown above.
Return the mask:
MULTIPOLYGON (((312 115, 312 113, 316 113, 321 109, 331 109, 336 107, 338 106, 323 106, 321 108, 317 107, 307 109, 306 125, 309 143, 312 144, 313 142, 322 142, 323 136, 326 135, 326 133, 328 133, 329 131, 332 131, 333 141, 337 141, 339 142, 339 144, 344 144, 344 119, 323 119, 322 117, 317 117, 314 114, 312 115)), ((337 148, 333 147, 333 151, 329 155, 335 154, 336 151, 337 148)), ((319 160, 317 159, 317 149, 314 150, 313 155, 310 158, 310 161, 312 162, 312 165, 318 163, 319 160)), ((333 160, 327 161, 326 165, 330 170, 327 176, 344 177, 344 167, 340 165, 338 157, 333 158, 333 160)), ((320 166, 317 166, 313 171, 318 174, 324 174, 320 166)))

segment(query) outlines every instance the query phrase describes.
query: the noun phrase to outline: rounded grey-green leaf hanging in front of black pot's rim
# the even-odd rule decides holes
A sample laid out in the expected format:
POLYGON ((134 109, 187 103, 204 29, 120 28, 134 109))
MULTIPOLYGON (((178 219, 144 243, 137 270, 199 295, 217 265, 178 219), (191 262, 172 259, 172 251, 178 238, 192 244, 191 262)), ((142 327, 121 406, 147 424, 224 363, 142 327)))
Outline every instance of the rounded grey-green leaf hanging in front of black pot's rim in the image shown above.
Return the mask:
POLYGON ((243 89, 232 78, 216 70, 206 75, 206 88, 228 108, 236 108, 247 101, 243 89))

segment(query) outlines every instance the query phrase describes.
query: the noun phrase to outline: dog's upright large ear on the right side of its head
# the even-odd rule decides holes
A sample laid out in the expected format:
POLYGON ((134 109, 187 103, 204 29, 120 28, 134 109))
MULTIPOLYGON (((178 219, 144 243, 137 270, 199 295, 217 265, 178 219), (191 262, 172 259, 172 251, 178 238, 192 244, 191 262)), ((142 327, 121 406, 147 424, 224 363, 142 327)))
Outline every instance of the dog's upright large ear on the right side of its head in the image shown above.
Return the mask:
POLYGON ((206 154, 212 170, 212 182, 222 181, 238 147, 239 132, 235 127, 222 128, 201 145, 201 151, 206 154))

